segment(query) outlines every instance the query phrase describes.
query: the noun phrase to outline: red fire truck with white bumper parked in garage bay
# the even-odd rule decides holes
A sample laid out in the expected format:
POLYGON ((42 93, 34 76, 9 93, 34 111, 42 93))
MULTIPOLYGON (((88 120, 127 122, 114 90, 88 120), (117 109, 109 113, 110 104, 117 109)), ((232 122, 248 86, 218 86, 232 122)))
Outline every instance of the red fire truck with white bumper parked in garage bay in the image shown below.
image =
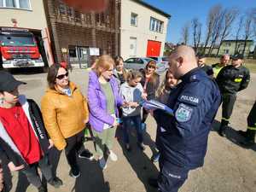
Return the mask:
POLYGON ((0 65, 3 68, 44 67, 38 44, 26 29, 0 29, 0 65))

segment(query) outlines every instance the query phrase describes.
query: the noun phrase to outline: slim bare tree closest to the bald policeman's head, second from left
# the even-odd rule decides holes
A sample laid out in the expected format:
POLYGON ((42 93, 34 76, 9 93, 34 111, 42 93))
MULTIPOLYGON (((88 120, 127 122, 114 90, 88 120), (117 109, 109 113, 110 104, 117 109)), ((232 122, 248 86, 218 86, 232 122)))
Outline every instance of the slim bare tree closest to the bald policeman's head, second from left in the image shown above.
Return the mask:
POLYGON ((191 21, 191 24, 192 24, 194 49, 195 49, 195 53, 197 53, 198 47, 201 43, 201 22, 198 20, 198 18, 195 18, 191 21))

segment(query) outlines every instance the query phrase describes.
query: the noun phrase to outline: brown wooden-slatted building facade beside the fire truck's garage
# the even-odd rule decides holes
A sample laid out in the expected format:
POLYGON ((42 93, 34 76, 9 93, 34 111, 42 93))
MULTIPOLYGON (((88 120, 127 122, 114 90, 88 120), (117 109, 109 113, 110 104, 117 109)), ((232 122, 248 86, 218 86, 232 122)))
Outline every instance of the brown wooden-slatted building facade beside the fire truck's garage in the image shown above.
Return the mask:
POLYGON ((119 1, 102 13, 84 13, 61 0, 44 0, 55 61, 89 67, 97 55, 119 55, 119 1))

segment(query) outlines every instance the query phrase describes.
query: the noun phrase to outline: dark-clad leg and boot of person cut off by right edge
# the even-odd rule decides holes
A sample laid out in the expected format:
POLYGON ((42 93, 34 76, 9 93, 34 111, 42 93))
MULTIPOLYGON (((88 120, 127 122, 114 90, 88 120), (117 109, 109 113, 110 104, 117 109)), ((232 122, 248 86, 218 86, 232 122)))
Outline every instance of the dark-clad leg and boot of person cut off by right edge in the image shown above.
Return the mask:
POLYGON ((245 137, 241 144, 247 147, 253 146, 256 134, 256 101, 247 117, 247 131, 238 131, 238 133, 245 137))

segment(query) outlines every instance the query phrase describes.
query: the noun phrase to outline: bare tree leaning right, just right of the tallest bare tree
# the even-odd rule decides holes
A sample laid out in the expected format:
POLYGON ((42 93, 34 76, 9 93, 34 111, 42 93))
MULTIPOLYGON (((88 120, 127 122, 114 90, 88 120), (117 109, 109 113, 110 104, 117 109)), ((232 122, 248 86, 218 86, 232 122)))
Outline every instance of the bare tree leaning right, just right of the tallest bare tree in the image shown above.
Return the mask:
POLYGON ((219 49, 223 43, 223 40, 230 36, 230 29, 234 20, 236 20, 236 17, 238 15, 238 9, 235 9, 235 8, 225 9, 223 15, 224 15, 224 29, 220 35, 220 43, 218 45, 218 51, 216 55, 218 55, 219 53, 219 49))

